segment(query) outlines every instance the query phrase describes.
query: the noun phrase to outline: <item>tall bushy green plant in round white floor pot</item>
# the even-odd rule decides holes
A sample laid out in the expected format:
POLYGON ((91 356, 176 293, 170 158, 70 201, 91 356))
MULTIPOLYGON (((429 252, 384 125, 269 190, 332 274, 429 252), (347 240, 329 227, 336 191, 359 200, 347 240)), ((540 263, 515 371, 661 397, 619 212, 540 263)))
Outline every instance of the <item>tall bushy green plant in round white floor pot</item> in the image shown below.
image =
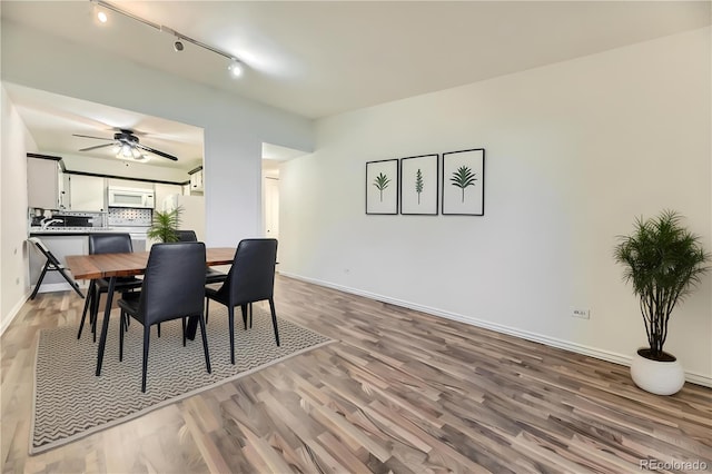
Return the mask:
POLYGON ((674 210, 635 220, 630 236, 621 236, 615 261, 625 267, 624 279, 640 298, 649 347, 637 349, 631 364, 633 382, 644 391, 672 395, 684 385, 684 371, 675 356, 663 350, 668 322, 675 305, 700 283, 710 260, 700 237, 681 225, 674 210))

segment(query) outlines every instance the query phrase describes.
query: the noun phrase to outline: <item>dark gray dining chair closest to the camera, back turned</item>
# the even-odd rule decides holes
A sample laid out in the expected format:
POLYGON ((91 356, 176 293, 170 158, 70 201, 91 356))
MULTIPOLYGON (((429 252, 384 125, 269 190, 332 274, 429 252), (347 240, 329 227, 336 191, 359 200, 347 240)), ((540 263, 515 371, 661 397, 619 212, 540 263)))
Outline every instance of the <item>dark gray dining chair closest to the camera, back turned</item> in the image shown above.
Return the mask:
MULTIPOLYGON (((199 318, 205 364, 208 374, 211 373, 202 313, 204 297, 205 244, 199 241, 155 244, 148 257, 141 290, 127 293, 118 300, 121 308, 121 327, 126 326, 129 316, 144 325, 141 392, 146 392, 150 327, 164 322, 182 320, 185 345, 186 318, 191 316, 199 318)), ((123 338, 125 330, 119 330, 119 361, 123 359, 123 338)), ((164 344, 170 344, 170 342, 164 344)), ((171 364, 172 361, 165 363, 171 364)))

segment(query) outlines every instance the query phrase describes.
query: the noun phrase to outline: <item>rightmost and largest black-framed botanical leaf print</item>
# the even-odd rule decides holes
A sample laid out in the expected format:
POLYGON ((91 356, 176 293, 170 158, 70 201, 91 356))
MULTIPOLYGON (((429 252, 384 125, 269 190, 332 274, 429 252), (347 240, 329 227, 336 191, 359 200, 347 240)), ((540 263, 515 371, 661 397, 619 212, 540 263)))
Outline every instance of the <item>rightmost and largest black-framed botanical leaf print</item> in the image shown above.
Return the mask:
POLYGON ((485 150, 443 154, 443 215, 485 215, 485 150))

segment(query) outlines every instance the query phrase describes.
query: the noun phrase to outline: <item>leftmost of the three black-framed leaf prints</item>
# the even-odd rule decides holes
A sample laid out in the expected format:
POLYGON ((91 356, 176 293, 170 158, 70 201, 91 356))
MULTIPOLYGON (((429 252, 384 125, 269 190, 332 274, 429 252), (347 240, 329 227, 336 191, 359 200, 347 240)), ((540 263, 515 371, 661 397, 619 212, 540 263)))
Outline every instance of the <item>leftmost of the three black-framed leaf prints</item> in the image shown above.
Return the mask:
POLYGON ((398 160, 366 164, 366 214, 398 214, 398 160))

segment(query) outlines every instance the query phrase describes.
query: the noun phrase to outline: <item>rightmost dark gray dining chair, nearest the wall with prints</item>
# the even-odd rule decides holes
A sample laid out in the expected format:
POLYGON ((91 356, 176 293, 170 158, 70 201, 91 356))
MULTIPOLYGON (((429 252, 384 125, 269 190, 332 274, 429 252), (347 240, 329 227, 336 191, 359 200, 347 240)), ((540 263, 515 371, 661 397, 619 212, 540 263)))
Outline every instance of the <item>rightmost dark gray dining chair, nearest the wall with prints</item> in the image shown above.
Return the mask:
MULTIPOLYGON (((233 266, 222 285, 215 289, 205 288, 206 314, 214 299, 227 306, 230 330, 230 363, 235 364, 235 307, 243 309, 243 322, 247 329, 247 308, 256 302, 268 300, 275 340, 279 345, 279 329, 275 314, 275 265, 277 263, 277 240, 274 238, 244 239, 237 246, 233 266)), ((251 320, 250 320, 251 325, 251 320)))

